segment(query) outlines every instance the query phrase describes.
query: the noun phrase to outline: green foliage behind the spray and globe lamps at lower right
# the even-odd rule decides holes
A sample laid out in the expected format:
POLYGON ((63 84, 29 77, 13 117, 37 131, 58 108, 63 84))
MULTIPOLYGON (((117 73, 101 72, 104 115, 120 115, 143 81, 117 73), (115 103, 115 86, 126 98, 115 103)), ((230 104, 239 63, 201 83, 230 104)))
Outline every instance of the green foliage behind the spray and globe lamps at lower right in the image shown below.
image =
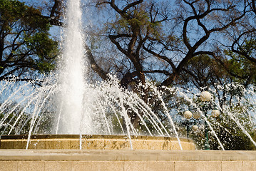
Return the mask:
MULTIPOLYGON (((252 113, 255 113, 255 105, 252 103, 245 87, 235 84, 227 84, 220 89, 215 89, 211 92, 213 97, 209 102, 202 102, 199 97, 194 96, 193 104, 188 103, 188 100, 179 100, 177 98, 177 106, 175 108, 180 115, 180 120, 175 120, 175 124, 179 125, 179 133, 186 136, 187 125, 189 128, 189 138, 192 138, 200 150, 205 149, 205 120, 201 116, 199 119, 185 119, 183 113, 189 110, 193 113, 202 111, 202 114, 207 113, 208 122, 213 130, 208 128, 209 144, 211 150, 222 150, 217 138, 219 138, 225 150, 256 150, 250 138, 242 130, 244 128, 247 133, 255 138, 255 121, 252 118, 252 113), (225 96, 225 98, 224 98, 225 96), (221 106, 220 106, 221 105, 221 106), (183 107, 184 106, 184 107, 183 107), (187 107, 185 107, 187 106, 187 107), (215 118, 211 114, 212 110, 220 110, 220 115, 215 118), (199 130, 191 130, 193 125, 198 125, 199 130), (240 127, 242 126, 242 128, 240 127), (214 133, 213 133, 214 131, 214 133)), ((176 102, 176 100, 175 100, 176 102)))

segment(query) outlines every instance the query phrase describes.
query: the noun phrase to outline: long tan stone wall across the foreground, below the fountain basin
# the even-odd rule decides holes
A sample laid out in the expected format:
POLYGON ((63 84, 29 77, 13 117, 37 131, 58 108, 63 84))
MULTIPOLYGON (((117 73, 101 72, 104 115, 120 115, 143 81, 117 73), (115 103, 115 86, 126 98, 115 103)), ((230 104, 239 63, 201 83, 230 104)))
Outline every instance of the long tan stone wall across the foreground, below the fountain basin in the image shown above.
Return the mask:
POLYGON ((256 170, 255 151, 0 150, 0 170, 256 170))

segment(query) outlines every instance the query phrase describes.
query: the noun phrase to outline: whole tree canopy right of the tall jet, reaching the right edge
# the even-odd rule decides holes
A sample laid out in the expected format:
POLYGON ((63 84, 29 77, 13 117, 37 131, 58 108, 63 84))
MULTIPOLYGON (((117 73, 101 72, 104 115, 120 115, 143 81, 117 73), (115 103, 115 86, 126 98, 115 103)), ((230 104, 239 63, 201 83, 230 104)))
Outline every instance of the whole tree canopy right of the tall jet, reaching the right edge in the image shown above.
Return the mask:
MULTIPOLYGON (((112 43, 110 48, 118 51, 118 58, 108 61, 112 63, 110 68, 121 73, 124 86, 131 81, 143 83, 145 76, 155 78, 162 86, 185 83, 180 82, 185 78, 184 74, 200 80, 202 77, 188 68, 191 63, 198 70, 200 67, 211 68, 210 62, 225 73, 218 74, 215 81, 240 79, 248 85, 254 79, 252 68, 255 66, 253 4, 253 1, 236 0, 98 0, 96 7, 100 13, 108 11, 109 15, 108 19, 102 21, 104 25, 100 27, 98 35, 108 38, 112 43), (208 56, 209 63, 204 66, 201 65, 203 63, 199 64, 200 56, 208 56), (251 69, 245 69, 248 65, 251 69)), ((95 46, 91 51, 97 50, 93 48, 95 46)), ((91 55, 97 58, 97 53, 91 55)), ((99 68, 97 71, 101 71, 98 72, 100 76, 106 74, 99 68)), ((204 71, 215 74, 207 69, 204 71)), ((189 81, 190 84, 195 83, 193 79, 189 81)), ((200 83, 200 86, 209 86, 209 83, 200 83)))

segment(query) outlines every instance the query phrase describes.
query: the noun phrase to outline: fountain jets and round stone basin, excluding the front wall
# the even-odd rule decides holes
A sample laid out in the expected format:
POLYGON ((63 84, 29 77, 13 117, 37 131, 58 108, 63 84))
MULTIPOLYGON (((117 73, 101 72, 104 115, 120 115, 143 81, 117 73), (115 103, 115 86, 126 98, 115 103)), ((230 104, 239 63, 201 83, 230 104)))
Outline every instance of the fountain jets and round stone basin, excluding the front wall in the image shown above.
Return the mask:
MULTIPOLYGON (((1 113, 4 113, 0 120, 1 148, 194 150, 192 140, 180 138, 177 130, 177 124, 184 120, 180 113, 193 110, 201 119, 194 122, 199 126, 208 125, 219 149, 225 150, 213 128, 214 124, 220 123, 207 118, 198 104, 200 92, 185 92, 180 88, 159 89, 148 81, 144 86, 150 88, 151 97, 145 102, 138 94, 120 88, 115 76, 96 85, 87 83, 79 4, 78 0, 67 4, 63 56, 58 63, 58 73, 41 78, 42 85, 36 88, 31 88, 33 82, 1 82, 0 93, 5 97, 0 105, 1 113), (179 99, 185 102, 180 103, 179 99), (161 110, 155 112, 153 103, 157 103, 161 110), (133 124, 132 115, 140 120, 139 126, 133 124), (155 146, 150 145, 154 143, 155 146)), ((232 114, 233 109, 223 108, 216 100, 217 95, 221 95, 217 91, 222 89, 219 86, 210 90, 215 95, 211 103, 222 113, 227 113, 256 146, 244 128, 248 123, 254 123, 255 108, 250 110, 249 122, 240 123, 232 114)), ((254 90, 245 91, 247 99, 233 101, 245 104, 246 100, 255 98, 254 90)), ((196 119, 195 115, 193 119, 196 119)))

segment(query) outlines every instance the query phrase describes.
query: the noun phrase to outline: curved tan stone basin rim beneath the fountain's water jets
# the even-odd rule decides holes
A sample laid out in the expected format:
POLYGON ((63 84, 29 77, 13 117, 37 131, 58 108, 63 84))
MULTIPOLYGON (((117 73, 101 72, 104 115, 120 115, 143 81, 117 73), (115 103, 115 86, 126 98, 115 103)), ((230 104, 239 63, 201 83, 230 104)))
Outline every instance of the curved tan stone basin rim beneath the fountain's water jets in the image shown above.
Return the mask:
MULTIPOLYGON (((177 138, 131 136, 133 150, 180 150, 177 138)), ((0 149, 26 149, 28 135, 2 135, 0 149)), ((195 150, 193 140, 180 138, 183 150, 195 150)), ((83 150, 129 150, 126 135, 82 135, 83 150)), ((80 135, 31 135, 29 149, 79 149, 80 135)))

